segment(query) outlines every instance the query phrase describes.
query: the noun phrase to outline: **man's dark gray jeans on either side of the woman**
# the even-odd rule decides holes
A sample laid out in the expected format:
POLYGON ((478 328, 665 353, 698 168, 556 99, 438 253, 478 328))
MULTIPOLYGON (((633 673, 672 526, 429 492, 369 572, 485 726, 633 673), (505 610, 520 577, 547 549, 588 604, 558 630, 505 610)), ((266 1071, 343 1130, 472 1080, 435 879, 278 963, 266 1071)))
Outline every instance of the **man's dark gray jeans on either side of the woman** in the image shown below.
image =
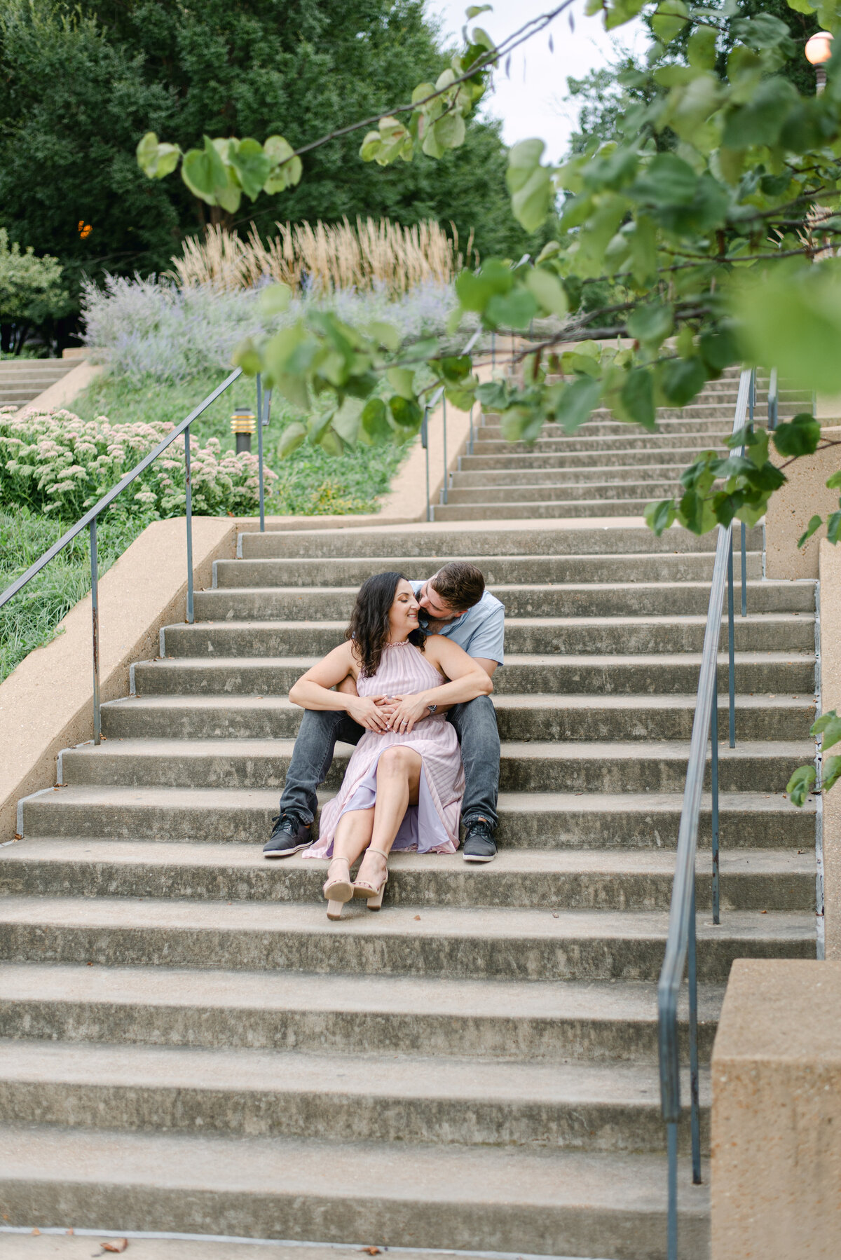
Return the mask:
MULTIPOLYGON (((461 745, 465 780, 461 822, 469 827, 483 818, 493 829, 497 825, 499 791, 499 732, 493 702, 489 696, 477 696, 465 704, 455 704, 446 718, 455 727, 461 745)), ((305 824, 311 823, 318 804, 315 789, 327 779, 335 741, 358 743, 363 735, 364 727, 347 713, 304 709, 280 798, 280 813, 294 814, 305 824)))

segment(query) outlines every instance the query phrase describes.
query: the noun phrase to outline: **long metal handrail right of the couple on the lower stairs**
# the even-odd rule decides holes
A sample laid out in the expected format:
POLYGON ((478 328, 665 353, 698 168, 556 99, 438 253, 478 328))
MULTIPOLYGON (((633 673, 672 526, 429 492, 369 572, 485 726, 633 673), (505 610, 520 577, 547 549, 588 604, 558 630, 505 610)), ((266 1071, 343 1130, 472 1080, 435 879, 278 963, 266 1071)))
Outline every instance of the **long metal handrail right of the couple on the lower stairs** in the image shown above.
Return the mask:
MULTIPOLYGON (((745 369, 739 378, 739 394, 733 422, 733 432, 753 422, 755 374, 745 369), (749 415, 750 413, 750 415, 749 415)), ((734 454, 744 455, 744 446, 734 454)), ((733 617, 733 522, 719 525, 719 541, 712 568, 710 605, 704 651, 699 675, 692 738, 686 770, 683 806, 677 833, 675 883, 668 914, 666 955, 657 985, 657 1017, 659 1036, 659 1087, 663 1120, 667 1129, 668 1155, 668 1260, 677 1260, 677 1123, 681 1115, 680 1051, 677 1034, 677 1002, 688 961, 690 1005, 690 1099, 692 1128, 692 1181, 701 1182, 700 1101, 697 1062, 697 966, 696 966, 696 915, 695 915, 695 861, 697 848, 701 795, 706 772, 707 741, 711 741, 712 771, 712 917, 720 920, 719 902, 719 640, 724 612, 724 593, 728 590, 729 639, 729 703, 730 746, 735 747, 735 669, 734 669, 734 617, 733 617)), ((741 615, 746 615, 745 533, 741 530, 741 615)))

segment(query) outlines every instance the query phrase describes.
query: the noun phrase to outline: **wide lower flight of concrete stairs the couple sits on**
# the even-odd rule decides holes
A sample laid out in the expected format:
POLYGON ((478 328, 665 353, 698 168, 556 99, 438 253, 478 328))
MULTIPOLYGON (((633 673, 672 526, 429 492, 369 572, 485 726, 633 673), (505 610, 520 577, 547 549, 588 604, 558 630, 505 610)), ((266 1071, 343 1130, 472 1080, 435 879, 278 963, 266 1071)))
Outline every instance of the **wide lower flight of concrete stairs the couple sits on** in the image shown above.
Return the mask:
MULTIPOLYGON (((23 803, 0 850, 4 1222, 662 1260, 654 990, 715 541, 483 514, 243 534, 101 747, 23 803), (398 854, 382 912, 330 924, 323 864, 260 852, 286 690, 364 577, 445 557, 507 607, 499 857, 398 854)), ((782 794, 813 755, 815 592, 762 581, 748 546, 719 927, 709 799, 699 858, 705 1145, 731 960, 815 956, 815 816, 782 794)))

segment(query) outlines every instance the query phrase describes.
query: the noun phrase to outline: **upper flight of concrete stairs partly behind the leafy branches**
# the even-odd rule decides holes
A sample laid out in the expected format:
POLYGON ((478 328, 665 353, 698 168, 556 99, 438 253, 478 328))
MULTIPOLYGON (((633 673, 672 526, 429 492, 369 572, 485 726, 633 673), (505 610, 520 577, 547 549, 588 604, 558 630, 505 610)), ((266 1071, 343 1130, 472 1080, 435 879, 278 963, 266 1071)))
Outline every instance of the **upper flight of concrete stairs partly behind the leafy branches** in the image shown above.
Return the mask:
MULTIPOLYGON (((546 425, 533 444, 507 442, 498 417, 487 416, 473 449, 450 476, 436 520, 639 517, 652 499, 675 494, 681 471, 700 451, 722 447, 733 430, 739 369, 728 368, 683 408, 661 407, 659 431, 613 420, 605 408, 572 436, 546 425)), ((765 423, 767 382, 757 389, 757 420, 765 423)), ((812 397, 780 388, 778 417, 812 411, 812 397)))

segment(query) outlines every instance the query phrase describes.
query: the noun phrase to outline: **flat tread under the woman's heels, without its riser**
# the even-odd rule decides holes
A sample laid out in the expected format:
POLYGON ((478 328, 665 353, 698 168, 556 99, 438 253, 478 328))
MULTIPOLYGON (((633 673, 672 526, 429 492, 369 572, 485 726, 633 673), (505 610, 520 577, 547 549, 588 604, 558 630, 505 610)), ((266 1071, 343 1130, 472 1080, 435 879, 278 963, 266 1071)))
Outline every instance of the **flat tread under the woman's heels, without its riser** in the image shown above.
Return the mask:
MULTIPOLYGON (((362 906, 362 903, 359 903, 362 906)), ((357 910, 356 906, 352 907, 357 910)), ((364 908, 364 907, 363 907, 364 908)), ((424 940, 444 937, 469 940, 656 940, 664 941, 668 912, 657 910, 531 910, 521 907, 425 906, 419 916, 414 906, 390 906, 387 915, 359 911, 340 922, 330 922, 310 905, 282 902, 175 901, 151 897, 3 897, 0 927, 151 929, 294 932, 296 935, 363 936, 424 940)), ((815 936, 811 911, 733 910, 714 926, 705 912, 699 915, 699 940, 788 940, 815 936)))

